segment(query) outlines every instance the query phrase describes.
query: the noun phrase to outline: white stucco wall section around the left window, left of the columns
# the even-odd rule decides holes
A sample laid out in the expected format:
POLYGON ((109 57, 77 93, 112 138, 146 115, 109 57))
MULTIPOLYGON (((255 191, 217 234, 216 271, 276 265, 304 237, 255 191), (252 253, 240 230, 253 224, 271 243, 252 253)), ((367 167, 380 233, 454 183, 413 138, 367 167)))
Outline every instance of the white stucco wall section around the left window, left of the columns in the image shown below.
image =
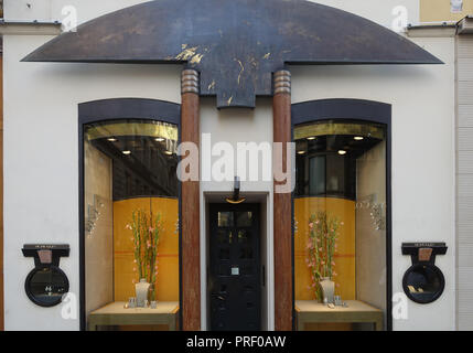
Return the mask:
POLYGON ((180 66, 20 63, 47 41, 6 36, 4 52, 4 308, 7 330, 77 330, 61 307, 41 309, 24 293, 33 259, 25 243, 68 243, 62 268, 78 293, 77 105, 144 97, 180 103, 180 66))

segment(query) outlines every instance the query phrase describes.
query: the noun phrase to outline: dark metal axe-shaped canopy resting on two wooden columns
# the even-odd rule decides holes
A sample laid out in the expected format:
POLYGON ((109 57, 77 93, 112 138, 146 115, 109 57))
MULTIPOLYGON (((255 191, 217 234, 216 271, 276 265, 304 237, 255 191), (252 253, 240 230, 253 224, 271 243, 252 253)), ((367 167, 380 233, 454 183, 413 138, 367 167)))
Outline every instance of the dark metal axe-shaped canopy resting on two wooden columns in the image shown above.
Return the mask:
POLYGON ((157 0, 92 20, 26 62, 185 63, 217 106, 254 107, 287 64, 441 64, 395 32, 302 0, 157 0))

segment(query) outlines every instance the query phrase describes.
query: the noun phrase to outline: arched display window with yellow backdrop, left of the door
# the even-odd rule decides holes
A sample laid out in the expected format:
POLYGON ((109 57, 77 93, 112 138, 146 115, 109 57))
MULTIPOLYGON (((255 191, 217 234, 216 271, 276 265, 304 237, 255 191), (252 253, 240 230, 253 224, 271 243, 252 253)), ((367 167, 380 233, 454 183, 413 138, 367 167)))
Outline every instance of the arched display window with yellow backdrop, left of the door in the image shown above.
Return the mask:
POLYGON ((87 315, 128 302, 141 279, 149 302, 179 301, 178 136, 153 120, 84 127, 87 315))

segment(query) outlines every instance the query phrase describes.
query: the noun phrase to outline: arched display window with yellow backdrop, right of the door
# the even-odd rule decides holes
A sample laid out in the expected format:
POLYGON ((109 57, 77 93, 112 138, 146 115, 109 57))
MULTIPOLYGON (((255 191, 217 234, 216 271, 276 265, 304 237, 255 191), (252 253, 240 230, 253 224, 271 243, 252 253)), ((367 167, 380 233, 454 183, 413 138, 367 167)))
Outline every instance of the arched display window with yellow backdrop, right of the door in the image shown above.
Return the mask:
POLYGON ((293 137, 295 310, 313 314, 301 329, 381 329, 387 310, 386 126, 327 119, 294 126, 293 137))

